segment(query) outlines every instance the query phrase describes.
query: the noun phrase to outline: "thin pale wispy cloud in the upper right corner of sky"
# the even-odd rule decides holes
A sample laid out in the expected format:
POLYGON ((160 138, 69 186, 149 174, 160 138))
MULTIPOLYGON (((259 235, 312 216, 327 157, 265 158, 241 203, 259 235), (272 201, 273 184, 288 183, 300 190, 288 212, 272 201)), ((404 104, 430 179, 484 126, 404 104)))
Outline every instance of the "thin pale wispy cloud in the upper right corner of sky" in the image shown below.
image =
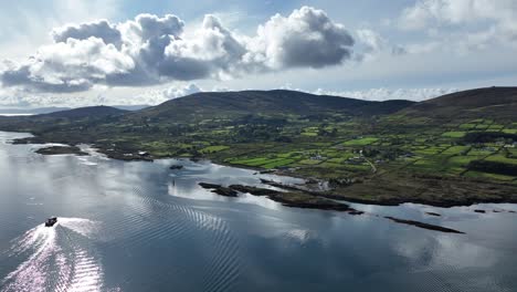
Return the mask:
POLYGON ((517 48, 515 0, 419 0, 405 8, 399 27, 426 31, 432 41, 408 45, 411 53, 473 51, 517 48))

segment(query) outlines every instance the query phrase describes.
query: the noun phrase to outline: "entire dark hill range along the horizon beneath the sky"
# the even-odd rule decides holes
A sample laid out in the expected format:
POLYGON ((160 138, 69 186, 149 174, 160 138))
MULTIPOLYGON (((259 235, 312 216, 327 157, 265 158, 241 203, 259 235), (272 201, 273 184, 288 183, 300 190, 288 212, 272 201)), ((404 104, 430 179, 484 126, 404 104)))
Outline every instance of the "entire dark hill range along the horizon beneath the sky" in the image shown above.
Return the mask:
POLYGON ((25 118, 84 118, 120 116, 136 118, 204 118, 218 115, 244 116, 254 114, 282 115, 318 115, 339 112, 351 116, 423 115, 432 117, 454 117, 479 111, 484 114, 511 116, 517 109, 517 87, 484 87, 445 94, 422 102, 407 100, 365 101, 358 98, 316 95, 298 91, 232 91, 199 92, 166 101, 155 106, 136 111, 122 109, 116 106, 85 106, 32 115, 25 118), (479 109, 481 108, 481 109, 479 109))

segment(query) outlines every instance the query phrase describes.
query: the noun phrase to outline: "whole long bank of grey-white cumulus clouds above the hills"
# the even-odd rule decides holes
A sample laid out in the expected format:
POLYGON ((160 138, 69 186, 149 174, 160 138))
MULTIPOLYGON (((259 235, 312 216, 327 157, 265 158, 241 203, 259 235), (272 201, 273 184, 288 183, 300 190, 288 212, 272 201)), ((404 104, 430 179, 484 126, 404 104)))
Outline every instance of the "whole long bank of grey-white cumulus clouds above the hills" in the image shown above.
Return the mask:
POLYGON ((224 80, 251 72, 337 65, 354 39, 339 23, 309 7, 271 18, 256 35, 239 35, 214 15, 184 31, 176 15, 139 14, 52 31, 53 44, 0 70, 4 87, 31 92, 81 92, 96 84, 143 86, 171 81, 224 80))

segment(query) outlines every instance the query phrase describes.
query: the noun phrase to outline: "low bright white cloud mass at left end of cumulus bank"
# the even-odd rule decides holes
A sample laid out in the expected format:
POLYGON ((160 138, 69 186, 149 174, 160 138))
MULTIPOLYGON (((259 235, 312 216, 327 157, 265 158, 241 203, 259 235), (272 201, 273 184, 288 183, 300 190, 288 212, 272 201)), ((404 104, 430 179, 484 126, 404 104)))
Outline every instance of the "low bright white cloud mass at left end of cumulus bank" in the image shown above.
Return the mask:
POLYGON ((28 91, 77 92, 134 66, 131 58, 101 39, 68 38, 66 42, 40 48, 20 65, 11 63, 0 80, 3 86, 22 86, 28 91))

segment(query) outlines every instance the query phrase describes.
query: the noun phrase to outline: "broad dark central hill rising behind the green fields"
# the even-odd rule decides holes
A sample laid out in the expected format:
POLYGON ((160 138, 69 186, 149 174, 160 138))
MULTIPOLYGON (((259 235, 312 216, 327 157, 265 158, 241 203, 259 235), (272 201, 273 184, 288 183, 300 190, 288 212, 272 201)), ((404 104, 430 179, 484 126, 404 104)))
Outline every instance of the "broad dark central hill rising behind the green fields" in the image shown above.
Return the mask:
POLYGON ((202 92, 176 98, 135 113, 139 117, 192 121, 243 115, 318 115, 340 113, 354 116, 390 114, 412 105, 409 101, 368 102, 314 95, 295 91, 202 92))

